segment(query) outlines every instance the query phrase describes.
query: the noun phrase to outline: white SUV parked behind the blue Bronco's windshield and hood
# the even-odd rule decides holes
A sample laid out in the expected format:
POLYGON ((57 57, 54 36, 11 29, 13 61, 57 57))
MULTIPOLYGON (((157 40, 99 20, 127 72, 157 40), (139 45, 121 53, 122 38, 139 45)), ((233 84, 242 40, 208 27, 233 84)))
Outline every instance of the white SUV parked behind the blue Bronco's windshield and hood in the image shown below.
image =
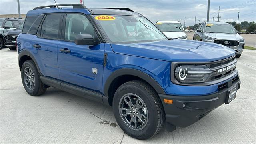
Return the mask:
POLYGON ((187 39, 183 26, 178 21, 157 21, 156 27, 158 27, 167 38, 187 39))

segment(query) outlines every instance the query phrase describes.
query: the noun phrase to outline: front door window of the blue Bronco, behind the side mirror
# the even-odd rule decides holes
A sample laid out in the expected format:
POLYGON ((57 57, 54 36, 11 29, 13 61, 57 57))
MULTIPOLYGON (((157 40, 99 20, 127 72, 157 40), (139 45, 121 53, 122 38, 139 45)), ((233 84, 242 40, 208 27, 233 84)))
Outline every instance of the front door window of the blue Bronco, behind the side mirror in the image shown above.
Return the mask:
POLYGON ((78 34, 90 34, 94 37, 94 28, 88 18, 81 14, 67 14, 65 40, 74 41, 78 34))

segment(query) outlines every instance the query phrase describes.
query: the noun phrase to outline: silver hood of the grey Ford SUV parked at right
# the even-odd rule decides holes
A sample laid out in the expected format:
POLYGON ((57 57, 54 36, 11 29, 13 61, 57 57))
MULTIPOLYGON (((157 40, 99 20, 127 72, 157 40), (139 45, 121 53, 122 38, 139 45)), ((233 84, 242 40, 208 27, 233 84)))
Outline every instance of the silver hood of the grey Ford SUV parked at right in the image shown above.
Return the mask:
POLYGON ((224 34, 224 33, 205 32, 205 35, 209 36, 211 38, 222 39, 222 40, 240 40, 243 38, 242 36, 239 36, 239 34, 224 34))

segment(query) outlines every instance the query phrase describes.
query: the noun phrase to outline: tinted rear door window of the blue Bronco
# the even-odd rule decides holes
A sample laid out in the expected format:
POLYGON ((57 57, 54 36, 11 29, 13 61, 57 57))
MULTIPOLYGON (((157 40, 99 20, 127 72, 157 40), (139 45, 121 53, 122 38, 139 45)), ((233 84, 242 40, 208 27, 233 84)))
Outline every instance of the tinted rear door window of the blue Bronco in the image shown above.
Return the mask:
POLYGON ((62 14, 49 14, 44 19, 41 28, 41 37, 57 39, 61 24, 62 14))

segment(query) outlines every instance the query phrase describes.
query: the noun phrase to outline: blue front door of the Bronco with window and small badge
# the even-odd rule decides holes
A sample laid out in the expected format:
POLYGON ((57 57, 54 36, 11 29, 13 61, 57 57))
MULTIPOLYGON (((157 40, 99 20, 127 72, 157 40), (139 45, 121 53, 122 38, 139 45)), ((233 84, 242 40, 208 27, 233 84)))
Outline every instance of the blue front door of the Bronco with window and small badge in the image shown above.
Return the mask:
POLYGON ((77 34, 91 34, 97 39, 94 28, 83 14, 66 14, 62 26, 64 36, 58 43, 58 66, 63 82, 102 92, 104 43, 96 46, 76 45, 77 34))

